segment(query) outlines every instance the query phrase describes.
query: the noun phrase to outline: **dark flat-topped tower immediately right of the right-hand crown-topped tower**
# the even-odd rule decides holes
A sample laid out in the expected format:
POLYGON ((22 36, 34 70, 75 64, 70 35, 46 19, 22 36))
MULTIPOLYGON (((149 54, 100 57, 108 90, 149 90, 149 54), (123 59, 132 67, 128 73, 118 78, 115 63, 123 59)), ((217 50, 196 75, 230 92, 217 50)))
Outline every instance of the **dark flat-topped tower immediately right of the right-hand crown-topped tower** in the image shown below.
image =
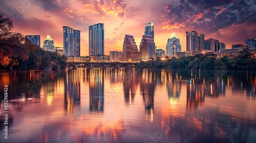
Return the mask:
POLYGON ((198 33, 196 31, 186 32, 186 50, 199 51, 198 33))

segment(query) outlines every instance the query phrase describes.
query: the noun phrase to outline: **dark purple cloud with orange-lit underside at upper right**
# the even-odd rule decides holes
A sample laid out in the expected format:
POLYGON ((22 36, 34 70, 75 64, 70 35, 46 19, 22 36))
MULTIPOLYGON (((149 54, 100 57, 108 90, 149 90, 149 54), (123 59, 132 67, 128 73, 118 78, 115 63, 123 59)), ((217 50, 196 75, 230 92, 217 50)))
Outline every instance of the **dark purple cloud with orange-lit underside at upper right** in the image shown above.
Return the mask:
POLYGON ((231 25, 256 23, 255 4, 250 1, 192 1, 181 0, 164 5, 162 29, 199 30, 218 32, 231 25))

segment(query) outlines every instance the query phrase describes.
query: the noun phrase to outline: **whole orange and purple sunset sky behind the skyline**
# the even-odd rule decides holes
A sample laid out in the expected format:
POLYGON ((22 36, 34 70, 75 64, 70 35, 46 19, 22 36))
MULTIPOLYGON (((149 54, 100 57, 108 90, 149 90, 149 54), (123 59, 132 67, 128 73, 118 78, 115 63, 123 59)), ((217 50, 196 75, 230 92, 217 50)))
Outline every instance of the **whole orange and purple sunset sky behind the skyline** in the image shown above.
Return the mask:
POLYGON ((55 47, 63 47, 62 26, 81 30, 81 56, 87 56, 88 27, 104 23, 105 55, 122 51, 125 34, 134 35, 139 47, 146 22, 153 21, 157 49, 165 50, 172 34, 186 50, 185 31, 205 34, 231 44, 256 38, 255 0, 0 0, 0 14, 14 21, 13 32, 40 35, 42 42, 50 34, 55 47))

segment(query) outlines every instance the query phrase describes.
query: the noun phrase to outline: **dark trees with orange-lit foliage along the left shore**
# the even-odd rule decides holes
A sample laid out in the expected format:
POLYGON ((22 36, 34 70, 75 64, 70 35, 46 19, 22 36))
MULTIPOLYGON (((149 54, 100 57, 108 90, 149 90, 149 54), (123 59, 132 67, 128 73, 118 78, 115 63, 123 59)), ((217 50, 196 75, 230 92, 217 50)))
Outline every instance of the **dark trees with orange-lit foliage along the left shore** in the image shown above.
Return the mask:
POLYGON ((22 34, 11 32, 13 22, 0 15, 0 69, 65 68, 66 56, 44 51, 22 34))

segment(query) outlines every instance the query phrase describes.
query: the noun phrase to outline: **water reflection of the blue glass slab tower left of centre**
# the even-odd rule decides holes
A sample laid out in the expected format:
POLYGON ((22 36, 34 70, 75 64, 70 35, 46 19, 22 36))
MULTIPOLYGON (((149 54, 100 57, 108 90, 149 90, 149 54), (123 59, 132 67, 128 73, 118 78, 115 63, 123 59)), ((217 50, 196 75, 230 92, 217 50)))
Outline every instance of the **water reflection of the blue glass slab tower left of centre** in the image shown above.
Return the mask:
POLYGON ((103 112, 105 69, 92 68, 90 71, 90 111, 103 112))

